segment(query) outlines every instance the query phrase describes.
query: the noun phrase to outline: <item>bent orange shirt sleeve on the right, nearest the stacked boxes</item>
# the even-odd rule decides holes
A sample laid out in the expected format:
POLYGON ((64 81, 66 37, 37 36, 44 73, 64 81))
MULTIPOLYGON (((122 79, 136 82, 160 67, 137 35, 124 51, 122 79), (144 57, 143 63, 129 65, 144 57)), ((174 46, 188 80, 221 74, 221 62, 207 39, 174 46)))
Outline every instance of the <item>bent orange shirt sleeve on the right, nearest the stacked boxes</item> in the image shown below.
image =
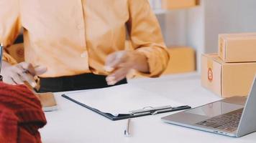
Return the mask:
POLYGON ((127 29, 132 47, 147 56, 150 73, 144 75, 159 77, 168 65, 170 56, 160 25, 147 0, 129 0, 127 29))

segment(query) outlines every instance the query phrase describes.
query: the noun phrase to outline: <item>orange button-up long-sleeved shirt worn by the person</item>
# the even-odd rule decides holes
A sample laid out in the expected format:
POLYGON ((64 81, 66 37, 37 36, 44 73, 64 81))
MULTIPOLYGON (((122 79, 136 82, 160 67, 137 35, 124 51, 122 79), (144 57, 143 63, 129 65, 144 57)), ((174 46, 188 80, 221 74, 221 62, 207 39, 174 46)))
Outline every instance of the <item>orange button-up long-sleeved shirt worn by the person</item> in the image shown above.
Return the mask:
MULTIPOLYGON (((149 76, 168 64, 147 0, 1 0, 0 41, 11 45, 21 28, 25 61, 47 66, 40 77, 106 75, 106 56, 124 50, 127 35, 132 48, 147 56, 149 76)), ((4 60, 13 63, 6 53, 4 60)))

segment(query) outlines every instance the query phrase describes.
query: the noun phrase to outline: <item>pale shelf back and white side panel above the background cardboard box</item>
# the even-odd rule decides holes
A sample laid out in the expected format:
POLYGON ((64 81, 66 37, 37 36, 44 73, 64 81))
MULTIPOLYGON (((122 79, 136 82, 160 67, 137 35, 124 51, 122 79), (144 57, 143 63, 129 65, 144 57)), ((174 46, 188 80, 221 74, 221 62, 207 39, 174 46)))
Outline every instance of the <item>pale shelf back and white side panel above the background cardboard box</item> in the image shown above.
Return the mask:
MULTIPOLYGON (((167 46, 191 46, 196 59, 204 53, 204 6, 155 11, 167 46)), ((200 64, 200 60, 197 60, 200 64)), ((198 66, 200 68, 200 66, 198 66)))

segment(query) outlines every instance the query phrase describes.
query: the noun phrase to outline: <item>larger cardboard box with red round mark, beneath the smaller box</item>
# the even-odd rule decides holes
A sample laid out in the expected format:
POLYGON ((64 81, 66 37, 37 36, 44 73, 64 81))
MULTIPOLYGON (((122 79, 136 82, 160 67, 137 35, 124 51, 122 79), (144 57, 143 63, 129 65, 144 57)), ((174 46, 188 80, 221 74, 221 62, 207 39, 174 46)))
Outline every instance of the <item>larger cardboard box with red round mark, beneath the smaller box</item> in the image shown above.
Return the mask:
POLYGON ((201 56, 201 84, 221 97, 247 96, 256 62, 225 63, 218 54, 201 56))

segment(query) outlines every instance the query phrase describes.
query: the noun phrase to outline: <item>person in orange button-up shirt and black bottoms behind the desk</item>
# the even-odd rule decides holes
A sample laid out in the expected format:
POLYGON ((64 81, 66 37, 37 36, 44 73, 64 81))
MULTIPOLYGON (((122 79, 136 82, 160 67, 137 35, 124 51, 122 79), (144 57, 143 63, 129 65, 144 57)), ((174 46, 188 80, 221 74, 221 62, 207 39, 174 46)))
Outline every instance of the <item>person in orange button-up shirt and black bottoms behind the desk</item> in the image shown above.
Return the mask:
POLYGON ((169 56, 147 0, 1 0, 0 41, 8 49, 23 29, 25 62, 4 53, 4 82, 40 92, 126 83, 130 69, 158 77, 169 56), (125 49, 129 38, 133 50, 125 49))

